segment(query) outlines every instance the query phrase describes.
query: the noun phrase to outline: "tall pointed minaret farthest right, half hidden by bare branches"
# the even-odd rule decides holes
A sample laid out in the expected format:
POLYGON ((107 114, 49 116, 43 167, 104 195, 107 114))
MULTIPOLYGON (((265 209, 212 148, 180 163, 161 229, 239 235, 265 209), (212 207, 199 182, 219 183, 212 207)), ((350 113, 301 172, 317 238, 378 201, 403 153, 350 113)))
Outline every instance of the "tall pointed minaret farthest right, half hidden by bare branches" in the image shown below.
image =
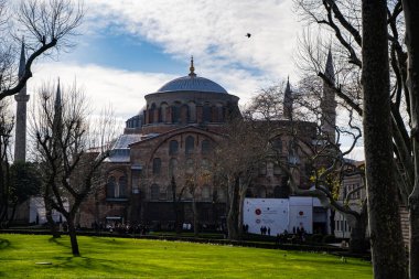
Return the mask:
MULTIPOLYGON (((333 58, 332 51, 329 49, 326 66, 324 75, 334 85, 335 76, 333 69, 333 58)), ((322 132, 330 142, 335 142, 336 140, 336 100, 335 93, 332 86, 323 81, 323 97, 320 104, 322 109, 322 132)))

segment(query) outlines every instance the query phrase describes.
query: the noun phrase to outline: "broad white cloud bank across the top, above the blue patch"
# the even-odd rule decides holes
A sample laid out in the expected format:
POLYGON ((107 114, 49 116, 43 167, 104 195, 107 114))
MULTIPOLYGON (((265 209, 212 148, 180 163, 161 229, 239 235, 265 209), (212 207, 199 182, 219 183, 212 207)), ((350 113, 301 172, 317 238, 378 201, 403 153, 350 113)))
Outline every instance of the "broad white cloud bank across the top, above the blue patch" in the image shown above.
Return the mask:
POLYGON ((98 28, 107 19, 173 56, 193 54, 205 72, 253 67, 270 79, 296 74, 291 56, 301 26, 291 0, 88 0, 86 4, 98 28))

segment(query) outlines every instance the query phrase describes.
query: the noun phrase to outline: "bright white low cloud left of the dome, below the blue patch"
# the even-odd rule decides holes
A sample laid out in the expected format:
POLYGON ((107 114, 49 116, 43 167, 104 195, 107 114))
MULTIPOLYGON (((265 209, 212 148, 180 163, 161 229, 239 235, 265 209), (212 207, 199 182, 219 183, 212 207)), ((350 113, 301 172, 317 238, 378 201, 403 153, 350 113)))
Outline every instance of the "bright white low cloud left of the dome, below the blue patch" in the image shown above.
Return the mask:
POLYGON ((29 82, 29 93, 34 95, 44 83, 60 77, 62 84, 74 81, 92 99, 96 112, 111 105, 118 117, 127 119, 146 105, 144 95, 159 89, 174 76, 165 74, 133 73, 98 65, 64 64, 60 62, 37 64, 34 77, 29 82))

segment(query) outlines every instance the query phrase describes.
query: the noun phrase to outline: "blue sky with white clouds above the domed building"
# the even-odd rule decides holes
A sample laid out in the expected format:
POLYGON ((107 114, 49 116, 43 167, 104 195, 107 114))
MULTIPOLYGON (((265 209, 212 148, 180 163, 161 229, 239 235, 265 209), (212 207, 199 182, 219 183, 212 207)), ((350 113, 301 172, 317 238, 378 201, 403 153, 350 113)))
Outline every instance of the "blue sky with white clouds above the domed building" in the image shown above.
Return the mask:
POLYGON ((299 79, 294 61, 304 26, 292 0, 84 3, 77 46, 57 61, 40 61, 30 93, 57 77, 64 85, 76 81, 95 111, 111 105, 125 121, 144 106, 144 95, 186 75, 191 55, 195 73, 238 96, 240 105, 288 76, 291 85, 299 79))

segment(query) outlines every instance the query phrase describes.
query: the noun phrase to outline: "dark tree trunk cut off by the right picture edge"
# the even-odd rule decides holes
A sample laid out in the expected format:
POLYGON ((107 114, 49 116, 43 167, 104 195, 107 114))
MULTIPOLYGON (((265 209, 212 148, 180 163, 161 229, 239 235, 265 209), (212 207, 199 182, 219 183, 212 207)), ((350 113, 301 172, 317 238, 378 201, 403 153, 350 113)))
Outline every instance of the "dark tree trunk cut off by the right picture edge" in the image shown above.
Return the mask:
POLYGON ((409 275, 419 278, 419 2, 402 0, 408 52, 407 86, 410 97, 411 138, 415 154, 415 186, 409 196, 409 275))

